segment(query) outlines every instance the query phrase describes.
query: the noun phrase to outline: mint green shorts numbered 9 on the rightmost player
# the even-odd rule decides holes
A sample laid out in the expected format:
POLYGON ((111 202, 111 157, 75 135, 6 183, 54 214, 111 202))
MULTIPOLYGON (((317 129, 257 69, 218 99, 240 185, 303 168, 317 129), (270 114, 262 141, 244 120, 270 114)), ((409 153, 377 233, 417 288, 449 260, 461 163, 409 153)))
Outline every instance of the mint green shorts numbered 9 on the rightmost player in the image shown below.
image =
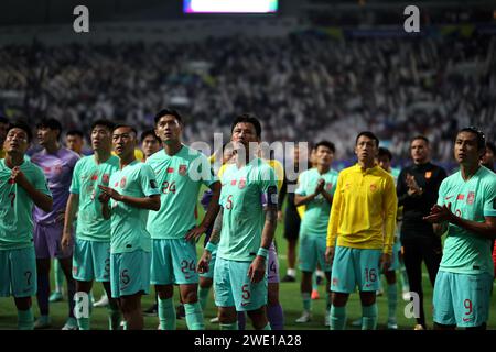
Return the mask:
POLYGON ((433 320, 459 328, 479 327, 489 318, 489 274, 438 272, 433 294, 433 320))

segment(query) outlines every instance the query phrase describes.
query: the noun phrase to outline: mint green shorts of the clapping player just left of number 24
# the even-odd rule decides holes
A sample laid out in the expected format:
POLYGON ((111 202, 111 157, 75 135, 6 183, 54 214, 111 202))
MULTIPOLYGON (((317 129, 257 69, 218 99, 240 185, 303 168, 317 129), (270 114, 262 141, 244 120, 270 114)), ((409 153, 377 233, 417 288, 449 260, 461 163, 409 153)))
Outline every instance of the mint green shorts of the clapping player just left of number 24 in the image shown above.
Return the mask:
POLYGON ((150 252, 110 254, 110 289, 112 297, 150 293, 150 252))

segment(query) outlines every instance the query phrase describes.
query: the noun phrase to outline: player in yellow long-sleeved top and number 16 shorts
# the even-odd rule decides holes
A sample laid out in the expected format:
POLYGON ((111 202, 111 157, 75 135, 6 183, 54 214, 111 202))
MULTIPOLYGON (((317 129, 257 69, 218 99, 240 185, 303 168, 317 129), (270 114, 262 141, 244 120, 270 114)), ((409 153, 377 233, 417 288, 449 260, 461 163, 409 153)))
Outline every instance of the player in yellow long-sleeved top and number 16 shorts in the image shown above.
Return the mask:
POLYGON ((332 263, 331 330, 343 330, 346 301, 358 286, 362 329, 376 329, 380 268, 391 263, 398 200, 395 180, 375 163, 379 140, 360 132, 355 141, 358 163, 337 178, 327 229, 326 260, 332 263), (337 241, 336 241, 337 240, 337 241))

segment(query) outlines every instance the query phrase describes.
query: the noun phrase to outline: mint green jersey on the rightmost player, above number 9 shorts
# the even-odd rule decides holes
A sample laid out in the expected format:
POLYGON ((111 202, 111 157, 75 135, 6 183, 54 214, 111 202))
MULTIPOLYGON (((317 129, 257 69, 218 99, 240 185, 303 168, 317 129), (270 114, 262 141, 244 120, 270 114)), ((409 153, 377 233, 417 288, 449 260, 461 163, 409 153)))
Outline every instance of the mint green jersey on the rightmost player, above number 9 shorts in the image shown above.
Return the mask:
MULTIPOLYGON (((496 217, 496 175, 481 168, 467 182, 461 172, 445 178, 438 205, 451 204, 451 211, 463 219, 483 222, 496 217)), ((449 224, 440 270, 461 274, 494 274, 492 241, 459 226, 449 224)))

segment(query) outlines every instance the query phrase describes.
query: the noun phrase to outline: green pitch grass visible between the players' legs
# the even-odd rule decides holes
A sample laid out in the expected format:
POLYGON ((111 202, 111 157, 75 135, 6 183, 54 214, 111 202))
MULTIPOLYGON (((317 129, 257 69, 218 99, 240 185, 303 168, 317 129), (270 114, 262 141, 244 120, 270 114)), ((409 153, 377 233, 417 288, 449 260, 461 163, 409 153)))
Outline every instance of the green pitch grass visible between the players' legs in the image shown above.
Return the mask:
MULTIPOLYGON (((202 210, 198 207, 198 210, 202 210)), ((202 211, 201 216, 203 216, 202 211)), ((279 262, 280 262, 280 275, 281 278, 285 274, 287 268, 287 260, 285 260, 285 249, 287 241, 282 237, 282 223, 278 224, 277 229, 277 244, 279 252, 279 262)), ((203 244, 203 238, 200 243, 203 244)), ((198 253, 202 253, 203 248, 198 244, 198 253)), ((427 271, 424 270, 424 273, 427 271)), ((399 276, 399 275, 398 275, 399 276)), ((386 287, 385 278, 382 277, 384 287, 386 287)), ((53 286, 52 280, 52 286, 53 286)), ((423 289, 424 289, 424 307, 427 315, 428 327, 432 328, 432 287, 429 283, 427 274, 423 275, 423 289)), ((101 284, 95 284, 94 286, 94 295, 96 299, 99 299, 103 293, 101 284)), ((401 286, 398 284, 398 292, 401 293, 401 286)), ((153 290, 151 290, 153 293, 153 290)), ((325 292, 324 285, 319 286, 319 293, 321 298, 312 301, 312 321, 309 323, 295 323, 294 320, 300 317, 302 302, 300 296, 300 285, 299 280, 296 283, 281 283, 280 284, 280 301, 282 304, 284 310, 285 318, 285 329, 288 330, 326 330, 324 327, 324 314, 325 314, 325 292)), ((175 290, 174 294, 175 304, 179 302, 179 290, 175 290)), ((147 309, 153 304, 153 295, 143 296, 142 306, 143 309, 147 309)), ((387 321, 387 298, 385 296, 377 297, 378 310, 379 310, 379 321, 378 329, 386 329, 387 321)), ((398 297, 398 309, 397 309, 397 319, 399 329, 411 330, 416 324, 414 319, 407 319, 405 317, 403 310, 406 308, 407 302, 398 297)), ((36 299, 33 299, 34 315, 35 317, 39 315, 36 299)), ((61 302, 51 304, 51 317, 53 329, 61 329, 67 318, 68 310, 67 300, 61 302)), ((357 294, 353 294, 349 297, 347 304, 347 322, 348 329, 358 329, 349 326, 352 321, 358 319, 362 315, 362 308, 359 304, 359 298, 357 294)), ((207 305, 205 310, 205 322, 206 328, 209 330, 218 330, 218 324, 213 324, 209 322, 209 319, 216 316, 216 309, 211 292, 211 301, 207 305)), ((144 317, 145 329, 154 330, 159 324, 159 320, 157 317, 144 317)), ((250 323, 247 323, 247 328, 251 329, 250 323)), ((0 298, 0 329, 17 329, 17 310, 13 304, 13 299, 10 298, 0 298)), ((105 308, 94 308, 91 314, 91 329, 95 330, 106 330, 108 329, 107 322, 107 309, 105 308)), ((184 319, 177 320, 177 329, 186 329, 186 322, 184 319)), ((490 305, 490 315, 488 321, 488 329, 496 329, 496 305, 494 304, 494 297, 490 305)))

